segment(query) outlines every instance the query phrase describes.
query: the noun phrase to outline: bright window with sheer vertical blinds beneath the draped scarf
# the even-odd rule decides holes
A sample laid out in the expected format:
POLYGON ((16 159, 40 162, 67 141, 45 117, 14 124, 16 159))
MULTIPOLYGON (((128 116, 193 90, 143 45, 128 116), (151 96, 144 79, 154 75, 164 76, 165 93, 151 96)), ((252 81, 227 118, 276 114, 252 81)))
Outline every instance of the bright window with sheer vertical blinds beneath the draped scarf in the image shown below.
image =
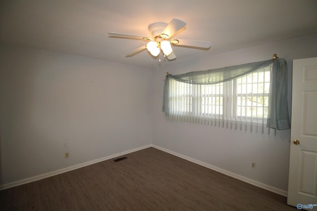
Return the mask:
POLYGON ((211 125, 266 123, 271 66, 218 84, 169 82, 169 119, 211 125))

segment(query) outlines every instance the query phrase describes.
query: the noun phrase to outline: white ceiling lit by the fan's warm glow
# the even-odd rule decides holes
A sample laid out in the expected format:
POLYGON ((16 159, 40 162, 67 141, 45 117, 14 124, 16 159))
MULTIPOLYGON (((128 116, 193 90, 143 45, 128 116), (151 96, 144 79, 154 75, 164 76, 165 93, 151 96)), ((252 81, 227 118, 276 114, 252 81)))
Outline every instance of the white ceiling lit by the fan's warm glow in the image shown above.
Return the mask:
MULTIPOLYGON (((317 0, 1 0, 0 42, 155 67, 142 40, 148 25, 178 18, 174 38, 211 41, 209 50, 173 46, 177 58, 161 65, 317 32, 317 0)), ((273 53, 273 52, 272 52, 273 53)))

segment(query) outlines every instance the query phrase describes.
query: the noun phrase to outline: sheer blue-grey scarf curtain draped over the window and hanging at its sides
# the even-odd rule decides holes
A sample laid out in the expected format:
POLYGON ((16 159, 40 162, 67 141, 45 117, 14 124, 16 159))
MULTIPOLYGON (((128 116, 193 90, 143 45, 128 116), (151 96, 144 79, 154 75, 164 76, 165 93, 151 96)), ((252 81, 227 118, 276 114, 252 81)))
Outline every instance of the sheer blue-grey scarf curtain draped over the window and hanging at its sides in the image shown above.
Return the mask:
POLYGON ((166 75, 163 92, 162 112, 169 113, 169 80, 173 79, 187 84, 218 84, 231 81, 252 72, 256 72, 273 63, 270 73, 268 97, 268 117, 266 127, 289 129, 290 121, 287 102, 287 64, 285 59, 276 58, 248 64, 189 72, 179 75, 166 75))

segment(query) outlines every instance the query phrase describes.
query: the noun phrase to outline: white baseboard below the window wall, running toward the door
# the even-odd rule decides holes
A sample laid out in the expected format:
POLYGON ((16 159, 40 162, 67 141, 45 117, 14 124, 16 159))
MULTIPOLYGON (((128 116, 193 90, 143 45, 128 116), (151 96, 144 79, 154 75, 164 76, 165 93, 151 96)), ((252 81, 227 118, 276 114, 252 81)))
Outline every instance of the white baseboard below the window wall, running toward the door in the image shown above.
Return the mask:
POLYGON ((249 183, 249 184, 255 185, 255 186, 257 186, 257 187, 260 187, 260 188, 263 188, 263 189, 265 189, 265 190, 271 191, 271 192, 273 192, 273 193, 277 193, 277 194, 279 194, 279 195, 282 195, 282 196, 286 196, 286 197, 287 197, 287 191, 281 190, 281 189, 279 189, 279 188, 276 188, 276 187, 273 187, 273 186, 270 186, 270 185, 266 185, 266 184, 264 184, 264 183, 262 183, 262 182, 258 182, 258 181, 256 181, 256 180, 247 178, 247 177, 245 177, 245 176, 241 176, 241 175, 236 174, 236 173, 233 173, 233 172, 231 172, 231 171, 228 171, 228 170, 225 170, 225 169, 221 169, 221 168, 212 166, 212 165, 210 165, 210 164, 207 164, 207 163, 204 163, 204 162, 202 162, 202 161, 199 161, 199 160, 196 160, 196 159, 187 157, 187 156, 185 156, 185 155, 179 154, 179 153, 177 153, 177 152, 173 152, 173 151, 171 151, 171 150, 168 150, 168 149, 159 147, 159 146, 154 145, 154 144, 152 145, 152 147, 154 147, 154 148, 156 148, 156 149, 159 149, 159 150, 161 150, 161 151, 167 152, 167 153, 169 153, 169 154, 171 154, 171 155, 175 155, 175 156, 177 156, 177 157, 183 158, 183 159, 185 159, 185 160, 187 160, 187 161, 190 161, 190 162, 193 162, 193 163, 195 163, 195 164, 201 165, 201 166, 206 167, 206 168, 208 168, 208 169, 212 169, 212 170, 218 171, 218 172, 220 172, 220 173, 226 174, 226 175, 231 176, 231 177, 233 177, 233 178, 239 179, 239 180, 241 180, 241 181, 247 182, 247 183, 249 183))

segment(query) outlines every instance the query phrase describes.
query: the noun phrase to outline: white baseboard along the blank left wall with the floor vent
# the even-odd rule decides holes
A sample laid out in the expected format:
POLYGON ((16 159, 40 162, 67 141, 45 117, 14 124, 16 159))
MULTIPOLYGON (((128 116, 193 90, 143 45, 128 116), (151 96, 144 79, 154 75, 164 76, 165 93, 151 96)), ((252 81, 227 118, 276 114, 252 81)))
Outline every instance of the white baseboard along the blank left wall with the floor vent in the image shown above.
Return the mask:
POLYGON ((29 182, 34 182, 34 181, 37 181, 37 180, 40 180, 40 179, 44 179, 44 178, 48 178, 48 177, 51 177, 51 176, 55 176, 55 175, 60 174, 60 173, 65 173, 67 171, 71 171, 71 170, 74 170, 74 169, 79 169, 79 168, 82 168, 82 167, 86 167, 86 166, 89 166, 89 165, 92 165, 92 164, 96 164, 96 163, 99 163, 99 162, 102 162, 102 161, 106 161, 106 160, 109 160, 109 159, 112 159, 112 158, 115 158, 115 157, 118 157, 118 156, 121 156, 121 155, 126 155, 126 154, 129 154, 129 153, 132 153, 132 152, 136 152, 136 151, 139 151, 139 150, 142 150, 142 149, 149 148, 149 147, 152 147, 152 144, 145 145, 145 146, 138 147, 138 148, 134 148, 134 149, 130 149, 130 150, 127 150, 127 151, 124 151, 124 152, 119 152, 119 153, 116 153, 116 154, 113 154, 113 155, 109 155, 109 156, 106 156, 106 157, 103 157, 103 158, 99 158, 99 159, 96 159, 96 160, 93 160, 93 161, 88 161, 88 162, 85 162, 85 163, 82 163, 82 164, 77 164, 77 165, 74 165, 74 166, 71 166, 71 167, 67 167, 67 168, 64 168, 64 169, 58 169, 58 170, 54 170, 54 171, 51 171, 51 172, 48 172, 48 173, 44 173, 44 174, 40 174, 40 175, 37 175, 37 176, 33 176, 33 177, 30 177, 30 178, 21 179, 21 180, 15 181, 15 182, 2 184, 2 185, 0 185, 0 190, 4 190, 4 189, 7 189, 7 188, 12 188, 12 187, 15 187, 15 186, 18 186, 18 185, 23 185, 23 184, 26 184, 26 183, 29 183, 29 182))

